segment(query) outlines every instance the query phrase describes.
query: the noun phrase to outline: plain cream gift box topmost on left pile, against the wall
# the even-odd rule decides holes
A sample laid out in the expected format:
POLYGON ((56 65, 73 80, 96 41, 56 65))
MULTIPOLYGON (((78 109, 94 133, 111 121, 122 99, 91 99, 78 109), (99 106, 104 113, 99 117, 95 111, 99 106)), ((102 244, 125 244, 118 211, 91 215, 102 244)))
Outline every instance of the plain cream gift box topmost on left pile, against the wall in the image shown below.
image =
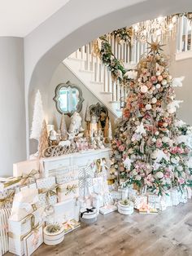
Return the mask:
POLYGON ((40 164, 39 160, 27 160, 27 161, 20 161, 18 163, 13 164, 13 176, 14 177, 21 177, 24 175, 30 174, 32 170, 36 170, 37 174, 35 174, 35 179, 40 178, 39 170, 40 164))

